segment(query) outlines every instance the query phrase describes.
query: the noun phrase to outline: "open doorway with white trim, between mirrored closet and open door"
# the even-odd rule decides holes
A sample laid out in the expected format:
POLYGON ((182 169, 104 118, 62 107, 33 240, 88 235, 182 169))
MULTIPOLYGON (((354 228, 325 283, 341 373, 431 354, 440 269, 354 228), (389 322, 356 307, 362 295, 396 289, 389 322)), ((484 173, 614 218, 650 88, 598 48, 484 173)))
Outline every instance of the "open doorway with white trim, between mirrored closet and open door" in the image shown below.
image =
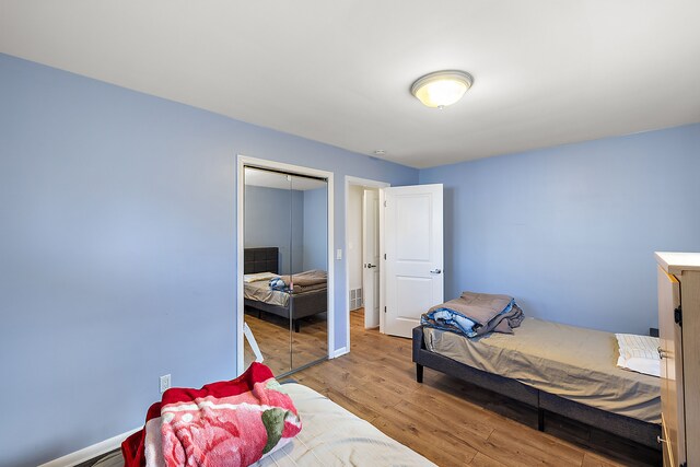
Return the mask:
MULTIPOLYGON (((346 177, 346 290, 350 314, 364 310, 364 327, 380 326, 380 196, 389 184, 346 177)), ((348 325, 348 341, 350 325, 348 325)))

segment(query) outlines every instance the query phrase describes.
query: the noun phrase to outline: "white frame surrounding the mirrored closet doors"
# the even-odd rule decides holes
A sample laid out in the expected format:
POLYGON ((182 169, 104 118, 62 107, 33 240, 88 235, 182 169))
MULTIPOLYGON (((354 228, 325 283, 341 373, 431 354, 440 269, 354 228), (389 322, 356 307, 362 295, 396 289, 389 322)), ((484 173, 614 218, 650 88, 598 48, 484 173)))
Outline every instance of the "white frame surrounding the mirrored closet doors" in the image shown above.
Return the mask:
MULTIPOLYGON (((238 154, 236 161, 236 375, 242 374, 245 371, 244 362, 244 343, 245 337, 243 336, 243 322, 244 322, 244 305, 243 305, 243 250, 244 250, 244 194, 245 194, 245 180, 244 180, 244 167, 246 165, 271 168, 276 171, 291 172, 292 174, 310 175, 313 177, 322 177, 328 180, 326 202, 328 203, 327 214, 327 272, 328 272, 328 310, 326 311, 326 323, 328 327, 328 358, 332 359, 336 355, 335 350, 335 236, 334 236, 334 173, 327 171, 320 171, 318 168, 305 167, 302 165, 285 164, 282 162, 269 161, 265 159, 249 157, 247 155, 238 154)), ((348 341, 348 348, 350 342, 348 341)))

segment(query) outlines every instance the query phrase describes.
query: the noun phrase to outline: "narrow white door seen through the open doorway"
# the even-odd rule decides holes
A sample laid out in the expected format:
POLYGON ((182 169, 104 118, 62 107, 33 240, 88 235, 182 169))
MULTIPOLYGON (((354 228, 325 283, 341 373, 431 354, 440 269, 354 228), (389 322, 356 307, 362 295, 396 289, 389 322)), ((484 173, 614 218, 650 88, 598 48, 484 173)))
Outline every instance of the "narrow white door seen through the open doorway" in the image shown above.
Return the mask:
POLYGON ((380 194, 365 189, 362 198, 362 296, 364 327, 380 325, 380 194))

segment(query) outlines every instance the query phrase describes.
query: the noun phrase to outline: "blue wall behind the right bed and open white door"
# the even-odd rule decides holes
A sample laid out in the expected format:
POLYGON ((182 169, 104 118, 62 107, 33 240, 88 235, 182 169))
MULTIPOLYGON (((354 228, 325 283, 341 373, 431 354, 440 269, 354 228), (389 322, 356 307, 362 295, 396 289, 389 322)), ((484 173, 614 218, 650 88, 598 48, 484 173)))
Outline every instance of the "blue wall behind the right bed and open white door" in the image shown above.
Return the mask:
POLYGON ((445 185, 445 296, 648 332, 653 252, 700 250, 699 148, 691 125, 420 171, 445 185))

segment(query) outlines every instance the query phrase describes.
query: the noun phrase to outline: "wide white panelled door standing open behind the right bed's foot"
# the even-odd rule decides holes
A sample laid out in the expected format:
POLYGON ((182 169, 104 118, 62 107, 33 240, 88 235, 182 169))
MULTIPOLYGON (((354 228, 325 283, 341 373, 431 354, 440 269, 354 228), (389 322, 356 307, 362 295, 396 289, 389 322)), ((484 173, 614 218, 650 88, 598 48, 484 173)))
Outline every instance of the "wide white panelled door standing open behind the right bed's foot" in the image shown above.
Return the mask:
POLYGON ((385 188, 386 334, 411 337, 420 315, 443 302, 442 184, 385 188))

